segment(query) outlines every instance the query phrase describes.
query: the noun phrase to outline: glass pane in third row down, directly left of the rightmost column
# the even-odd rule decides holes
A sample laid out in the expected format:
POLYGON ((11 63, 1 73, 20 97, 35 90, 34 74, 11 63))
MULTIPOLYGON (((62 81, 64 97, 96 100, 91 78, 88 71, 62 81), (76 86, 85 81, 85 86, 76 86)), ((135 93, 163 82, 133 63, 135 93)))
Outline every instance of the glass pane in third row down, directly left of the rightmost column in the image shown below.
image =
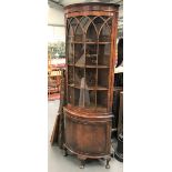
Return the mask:
POLYGON ((87 78, 87 84, 89 88, 94 89, 97 84, 97 69, 87 68, 85 69, 85 78, 87 78))

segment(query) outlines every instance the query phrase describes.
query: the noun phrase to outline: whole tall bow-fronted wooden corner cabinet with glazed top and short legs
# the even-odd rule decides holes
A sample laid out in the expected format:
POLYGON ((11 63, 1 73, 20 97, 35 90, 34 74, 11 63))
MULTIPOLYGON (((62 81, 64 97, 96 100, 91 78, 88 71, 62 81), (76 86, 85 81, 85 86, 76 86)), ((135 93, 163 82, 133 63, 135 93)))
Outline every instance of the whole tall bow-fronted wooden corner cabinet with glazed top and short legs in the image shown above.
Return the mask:
POLYGON ((64 150, 85 159, 107 160, 112 125, 118 8, 78 3, 64 8, 67 26, 67 105, 64 150))

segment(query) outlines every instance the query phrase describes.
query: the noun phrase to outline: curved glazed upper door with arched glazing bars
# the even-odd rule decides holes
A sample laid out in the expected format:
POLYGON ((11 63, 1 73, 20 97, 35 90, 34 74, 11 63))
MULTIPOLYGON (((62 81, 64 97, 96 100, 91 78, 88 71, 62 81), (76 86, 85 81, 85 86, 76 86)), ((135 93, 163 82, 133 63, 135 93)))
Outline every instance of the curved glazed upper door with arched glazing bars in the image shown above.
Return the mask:
POLYGON ((108 112, 113 17, 67 18, 68 104, 108 112))

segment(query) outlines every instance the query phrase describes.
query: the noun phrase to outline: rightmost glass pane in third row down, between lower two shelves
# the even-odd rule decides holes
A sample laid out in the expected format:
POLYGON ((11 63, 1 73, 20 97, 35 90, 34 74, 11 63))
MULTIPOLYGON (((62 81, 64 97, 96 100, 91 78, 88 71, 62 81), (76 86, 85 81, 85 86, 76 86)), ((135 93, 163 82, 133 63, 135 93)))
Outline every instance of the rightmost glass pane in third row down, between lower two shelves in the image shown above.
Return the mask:
POLYGON ((98 69, 98 87, 109 87, 109 69, 98 69))

